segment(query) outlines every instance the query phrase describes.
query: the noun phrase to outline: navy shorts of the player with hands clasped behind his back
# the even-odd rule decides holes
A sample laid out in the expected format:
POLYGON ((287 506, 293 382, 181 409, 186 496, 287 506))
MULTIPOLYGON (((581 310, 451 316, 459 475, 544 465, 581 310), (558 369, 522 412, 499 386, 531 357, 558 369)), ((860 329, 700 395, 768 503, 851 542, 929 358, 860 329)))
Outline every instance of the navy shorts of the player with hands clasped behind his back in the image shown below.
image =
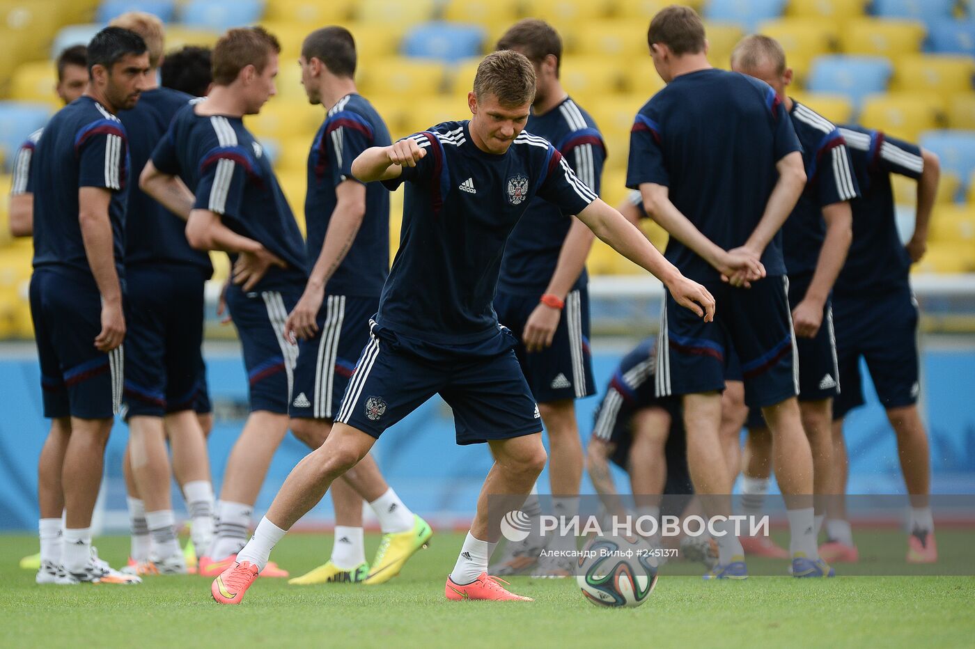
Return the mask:
POLYGON ((657 348, 656 394, 693 395, 724 389, 733 349, 741 361, 745 402, 774 405, 799 393, 792 311, 784 276, 751 288, 722 282, 706 287, 715 296, 715 320, 705 323, 667 294, 657 348))

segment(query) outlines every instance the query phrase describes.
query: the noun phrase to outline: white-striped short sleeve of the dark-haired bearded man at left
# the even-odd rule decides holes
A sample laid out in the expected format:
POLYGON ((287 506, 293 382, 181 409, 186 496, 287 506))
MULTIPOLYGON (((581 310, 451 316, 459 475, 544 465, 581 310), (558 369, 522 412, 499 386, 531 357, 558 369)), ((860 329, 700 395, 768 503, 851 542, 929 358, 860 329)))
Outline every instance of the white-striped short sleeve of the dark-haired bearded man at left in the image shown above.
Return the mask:
POLYGON ((82 128, 74 139, 78 186, 121 191, 129 166, 129 146, 121 122, 102 119, 82 128))

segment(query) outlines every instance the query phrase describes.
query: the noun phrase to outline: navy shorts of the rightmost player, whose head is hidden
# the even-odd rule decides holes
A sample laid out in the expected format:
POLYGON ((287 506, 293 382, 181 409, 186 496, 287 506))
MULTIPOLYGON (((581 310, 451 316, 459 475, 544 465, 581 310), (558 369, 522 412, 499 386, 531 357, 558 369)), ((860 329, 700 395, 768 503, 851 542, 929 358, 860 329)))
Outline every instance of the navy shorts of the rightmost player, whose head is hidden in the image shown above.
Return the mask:
POLYGON ((864 403, 861 357, 884 408, 917 403, 917 300, 910 286, 870 297, 835 297, 833 319, 843 386, 833 417, 840 419, 864 403))

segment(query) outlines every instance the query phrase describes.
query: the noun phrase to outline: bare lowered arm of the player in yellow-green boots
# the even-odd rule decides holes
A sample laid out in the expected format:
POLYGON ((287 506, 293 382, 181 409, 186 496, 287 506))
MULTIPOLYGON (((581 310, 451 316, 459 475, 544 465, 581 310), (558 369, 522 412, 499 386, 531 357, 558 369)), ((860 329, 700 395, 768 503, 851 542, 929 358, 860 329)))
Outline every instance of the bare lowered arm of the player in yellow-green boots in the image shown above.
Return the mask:
POLYGON ((315 261, 301 299, 294 305, 285 323, 285 336, 293 342, 318 333, 318 311, 325 299, 325 285, 345 259, 366 216, 366 186, 358 180, 343 180, 335 187, 335 209, 325 232, 322 252, 315 261))

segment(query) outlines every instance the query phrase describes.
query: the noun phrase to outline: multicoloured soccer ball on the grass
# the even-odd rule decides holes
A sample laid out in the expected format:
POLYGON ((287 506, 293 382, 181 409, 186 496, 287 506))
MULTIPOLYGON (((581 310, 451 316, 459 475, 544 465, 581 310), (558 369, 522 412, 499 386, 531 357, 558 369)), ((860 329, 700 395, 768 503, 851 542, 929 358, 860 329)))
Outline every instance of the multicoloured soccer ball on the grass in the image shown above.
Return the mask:
POLYGON ((649 551, 642 539, 591 539, 579 555, 579 589, 596 606, 640 606, 657 585, 657 560, 649 551))

